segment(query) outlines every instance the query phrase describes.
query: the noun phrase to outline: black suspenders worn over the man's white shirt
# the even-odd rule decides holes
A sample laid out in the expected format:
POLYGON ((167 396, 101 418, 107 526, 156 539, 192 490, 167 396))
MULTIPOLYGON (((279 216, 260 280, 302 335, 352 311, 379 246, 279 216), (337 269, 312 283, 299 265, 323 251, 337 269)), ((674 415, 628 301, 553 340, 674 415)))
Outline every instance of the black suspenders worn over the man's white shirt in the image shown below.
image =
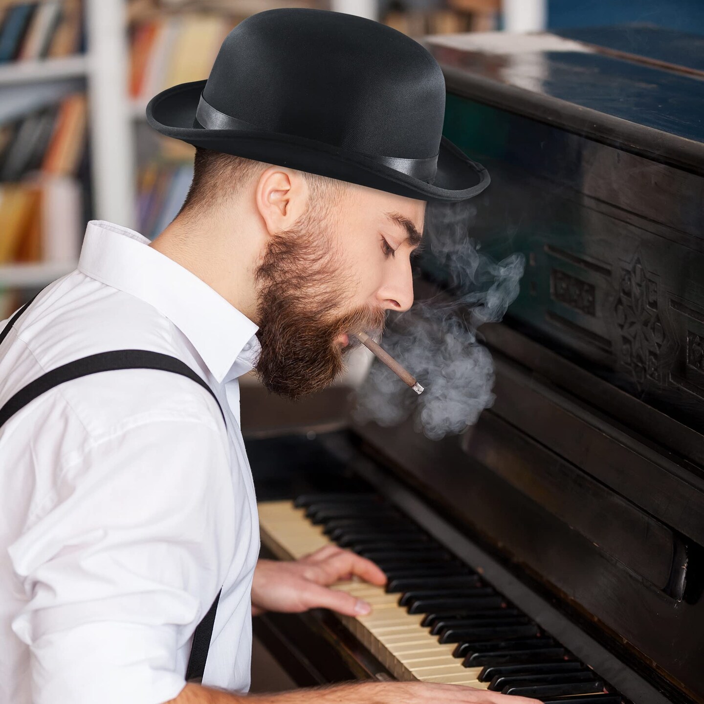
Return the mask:
MULTIPOLYGON (((34 301, 34 298, 32 298, 32 301, 34 301)), ((25 303, 25 305, 13 315, 2 332, 0 332, 0 344, 2 344, 3 340, 6 338, 10 328, 15 324, 15 321, 25 312, 32 301, 25 303)), ((90 374, 118 369, 155 369, 188 377, 196 382, 196 384, 203 386, 203 389, 206 389, 210 396, 215 398, 215 403, 218 403, 218 408, 220 408, 220 413, 222 414, 222 420, 225 421, 225 413, 223 413, 220 401, 218 401, 218 398, 215 396, 213 389, 210 389, 210 386, 182 360, 167 354, 162 354, 161 352, 147 350, 115 350, 100 352, 82 359, 77 359, 46 372, 38 379, 34 379, 33 382, 30 382, 30 384, 27 384, 23 389, 20 389, 20 391, 0 408, 0 427, 6 420, 17 413, 18 410, 27 406, 27 403, 33 401, 37 396, 41 396, 45 391, 53 389, 54 386, 58 386, 58 384, 64 384, 72 379, 78 379, 79 377, 90 374)), ((225 425, 227 425, 227 423, 225 423, 225 425)), ((218 610, 218 601, 220 601, 220 592, 218 592, 218 596, 215 597, 213 605, 210 606, 208 613, 203 617, 193 634, 191 654, 186 669, 186 679, 202 679, 203 677, 206 660, 208 658, 208 649, 210 648, 210 639, 213 636, 213 625, 215 624, 215 612, 218 610)))

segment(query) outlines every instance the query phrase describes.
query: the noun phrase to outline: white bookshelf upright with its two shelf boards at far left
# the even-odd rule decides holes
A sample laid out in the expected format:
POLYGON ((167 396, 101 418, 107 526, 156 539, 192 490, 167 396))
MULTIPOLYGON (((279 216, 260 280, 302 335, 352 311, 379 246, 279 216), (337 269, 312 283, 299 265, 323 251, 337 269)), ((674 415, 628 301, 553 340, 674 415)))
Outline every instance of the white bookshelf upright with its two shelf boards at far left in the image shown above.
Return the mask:
MULTIPOLYGON (((33 101, 50 101, 62 87, 80 89, 88 106, 87 139, 89 183, 84 197, 89 217, 136 225, 132 108, 126 100, 128 48, 125 0, 83 0, 85 52, 60 58, 23 59, 0 65, 0 103, 5 119, 31 111, 33 101), (42 98, 43 96, 43 98, 42 98)), ((0 184, 1 187, 1 184, 0 184)), ((1 223, 0 223, 1 225, 1 223)), ((80 222, 75 238, 80 249, 86 223, 80 222)), ((63 233, 65 237, 65 233, 63 233)), ((75 268, 75 257, 46 263, 0 265, 0 294, 16 306, 32 291, 75 268)), ((0 301, 1 302, 1 301, 0 301)), ((8 313, 0 310, 0 319, 8 313)))

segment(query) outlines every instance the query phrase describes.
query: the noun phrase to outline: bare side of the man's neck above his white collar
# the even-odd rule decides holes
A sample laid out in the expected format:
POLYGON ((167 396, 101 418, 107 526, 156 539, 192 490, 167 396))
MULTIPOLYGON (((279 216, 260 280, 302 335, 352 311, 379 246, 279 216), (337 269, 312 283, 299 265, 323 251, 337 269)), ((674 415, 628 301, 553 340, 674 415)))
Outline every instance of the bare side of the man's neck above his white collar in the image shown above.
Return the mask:
POLYGON ((207 222, 194 227, 178 218, 150 244, 217 291, 250 320, 256 320, 256 251, 240 246, 244 238, 223 234, 207 222))

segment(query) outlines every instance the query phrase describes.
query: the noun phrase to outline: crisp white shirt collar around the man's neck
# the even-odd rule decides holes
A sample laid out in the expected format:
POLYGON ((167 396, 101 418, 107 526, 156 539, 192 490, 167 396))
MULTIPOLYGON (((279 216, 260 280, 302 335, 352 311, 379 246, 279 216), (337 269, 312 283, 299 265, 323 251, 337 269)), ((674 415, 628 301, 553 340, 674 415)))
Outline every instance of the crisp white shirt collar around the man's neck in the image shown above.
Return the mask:
POLYGON ((260 351, 257 325, 149 244, 129 227, 90 220, 78 270, 165 315, 196 348, 218 384, 253 369, 260 351))

